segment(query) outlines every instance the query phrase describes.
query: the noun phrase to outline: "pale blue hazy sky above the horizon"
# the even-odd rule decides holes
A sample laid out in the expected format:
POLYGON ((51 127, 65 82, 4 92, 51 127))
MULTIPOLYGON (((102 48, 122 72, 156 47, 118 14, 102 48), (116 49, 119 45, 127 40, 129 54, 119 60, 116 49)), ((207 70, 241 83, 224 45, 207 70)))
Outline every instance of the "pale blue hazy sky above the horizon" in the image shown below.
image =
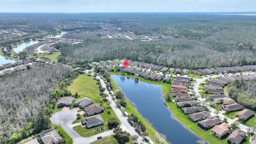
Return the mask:
POLYGON ((0 12, 252 12, 256 0, 0 0, 0 12))

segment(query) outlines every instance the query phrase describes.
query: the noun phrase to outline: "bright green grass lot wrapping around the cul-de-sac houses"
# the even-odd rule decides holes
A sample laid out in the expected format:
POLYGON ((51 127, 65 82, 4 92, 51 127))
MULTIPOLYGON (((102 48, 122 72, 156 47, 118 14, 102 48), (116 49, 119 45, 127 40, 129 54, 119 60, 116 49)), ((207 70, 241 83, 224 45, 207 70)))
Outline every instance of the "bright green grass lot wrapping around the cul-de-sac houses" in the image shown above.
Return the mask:
MULTIPOLYGON (((72 94, 75 94, 77 92, 78 95, 80 96, 78 98, 75 98, 74 102, 76 102, 84 97, 87 97, 87 98, 94 100, 94 102, 91 105, 101 104, 102 107, 105 108, 105 110, 103 113, 100 114, 100 116, 104 120, 104 126, 106 127, 106 130, 109 130, 108 126, 107 126, 107 122, 108 122, 109 117, 114 116, 114 110, 107 109, 108 102, 102 101, 102 97, 100 96, 99 88, 98 88, 98 85, 96 84, 96 82, 97 81, 93 79, 93 76, 87 76, 86 74, 79 74, 78 78, 76 78, 73 81, 73 83, 68 87, 68 90, 70 90, 70 92, 72 92, 72 94), (108 114, 108 111, 110 112, 110 114, 108 114)), ((71 108, 74 108, 73 105, 74 105, 74 103, 72 104, 71 108)), ((120 123, 120 120, 118 120, 118 121, 120 123)), ((77 123, 77 122, 81 122, 81 119, 75 120, 73 123, 77 123)), ((81 126, 79 128, 79 126, 76 126, 76 132, 78 132, 78 134, 80 134, 80 136, 84 136, 84 134, 85 133, 87 134, 88 132, 89 132, 90 136, 98 134, 98 133, 93 132, 95 129, 93 129, 93 130, 92 129, 82 128, 81 126)))

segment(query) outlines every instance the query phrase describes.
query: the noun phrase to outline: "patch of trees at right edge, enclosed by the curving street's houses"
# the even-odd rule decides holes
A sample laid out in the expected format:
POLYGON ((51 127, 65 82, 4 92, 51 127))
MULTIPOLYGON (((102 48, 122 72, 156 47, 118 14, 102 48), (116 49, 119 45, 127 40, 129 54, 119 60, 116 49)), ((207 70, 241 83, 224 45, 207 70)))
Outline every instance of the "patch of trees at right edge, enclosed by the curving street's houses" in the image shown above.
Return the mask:
POLYGON ((256 80, 236 80, 230 83, 228 95, 238 104, 256 111, 256 80))

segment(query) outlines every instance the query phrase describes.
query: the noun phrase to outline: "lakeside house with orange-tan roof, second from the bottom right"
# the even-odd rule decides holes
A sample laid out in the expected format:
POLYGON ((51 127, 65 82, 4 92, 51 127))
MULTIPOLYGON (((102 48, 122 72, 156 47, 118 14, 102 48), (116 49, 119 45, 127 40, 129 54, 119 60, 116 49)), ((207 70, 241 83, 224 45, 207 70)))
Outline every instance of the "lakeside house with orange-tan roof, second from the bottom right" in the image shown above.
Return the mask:
POLYGON ((228 134, 228 131, 229 131, 228 127, 229 127, 229 124, 227 124, 226 122, 222 122, 222 124, 216 125, 212 128, 211 134, 218 138, 221 138, 225 134, 228 134))

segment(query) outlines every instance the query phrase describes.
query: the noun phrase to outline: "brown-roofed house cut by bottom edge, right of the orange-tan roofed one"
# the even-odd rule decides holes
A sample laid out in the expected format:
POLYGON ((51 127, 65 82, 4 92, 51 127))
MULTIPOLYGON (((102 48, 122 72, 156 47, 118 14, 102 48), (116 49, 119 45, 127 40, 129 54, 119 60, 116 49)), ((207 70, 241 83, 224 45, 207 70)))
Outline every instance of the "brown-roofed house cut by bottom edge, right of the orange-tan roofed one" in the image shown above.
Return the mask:
POLYGON ((246 132, 235 129, 227 138, 228 144, 240 144, 246 138, 246 132))

